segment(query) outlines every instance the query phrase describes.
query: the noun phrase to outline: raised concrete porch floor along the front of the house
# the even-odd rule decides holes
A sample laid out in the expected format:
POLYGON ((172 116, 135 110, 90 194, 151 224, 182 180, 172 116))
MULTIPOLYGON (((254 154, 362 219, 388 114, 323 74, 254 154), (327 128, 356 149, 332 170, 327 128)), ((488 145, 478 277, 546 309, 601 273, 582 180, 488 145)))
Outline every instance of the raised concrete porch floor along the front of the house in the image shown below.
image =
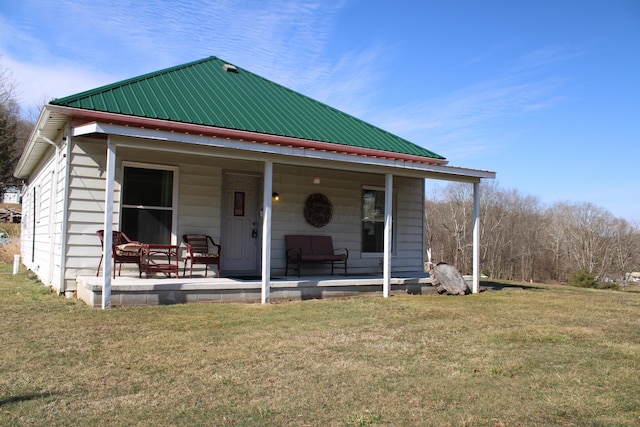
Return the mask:
MULTIPOLYGON (((76 278, 77 297, 91 307, 102 306, 102 277, 76 278)), ((431 293, 428 273, 401 273, 391 278, 392 293, 431 293)), ((380 276, 287 276, 271 279, 271 301, 382 295, 380 276)), ((118 276, 111 281, 111 306, 261 301, 261 281, 234 278, 138 278, 118 276)))

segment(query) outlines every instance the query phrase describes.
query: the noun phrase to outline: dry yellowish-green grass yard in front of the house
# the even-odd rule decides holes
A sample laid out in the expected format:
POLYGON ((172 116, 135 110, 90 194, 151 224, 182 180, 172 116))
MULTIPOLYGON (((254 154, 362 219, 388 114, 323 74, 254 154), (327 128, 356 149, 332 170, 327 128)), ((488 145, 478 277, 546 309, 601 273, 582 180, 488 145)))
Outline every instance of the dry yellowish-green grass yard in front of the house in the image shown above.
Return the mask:
POLYGON ((0 264, 0 425, 632 426, 640 293, 91 309, 0 264))

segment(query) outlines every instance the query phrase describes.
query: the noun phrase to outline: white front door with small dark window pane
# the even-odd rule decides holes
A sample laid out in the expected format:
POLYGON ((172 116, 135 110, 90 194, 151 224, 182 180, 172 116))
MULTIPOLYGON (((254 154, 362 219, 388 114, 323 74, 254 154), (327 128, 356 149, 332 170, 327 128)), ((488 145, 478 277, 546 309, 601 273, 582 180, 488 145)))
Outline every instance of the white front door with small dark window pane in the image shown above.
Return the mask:
POLYGON ((226 172, 222 204, 222 269, 226 273, 260 271, 260 177, 226 172))

